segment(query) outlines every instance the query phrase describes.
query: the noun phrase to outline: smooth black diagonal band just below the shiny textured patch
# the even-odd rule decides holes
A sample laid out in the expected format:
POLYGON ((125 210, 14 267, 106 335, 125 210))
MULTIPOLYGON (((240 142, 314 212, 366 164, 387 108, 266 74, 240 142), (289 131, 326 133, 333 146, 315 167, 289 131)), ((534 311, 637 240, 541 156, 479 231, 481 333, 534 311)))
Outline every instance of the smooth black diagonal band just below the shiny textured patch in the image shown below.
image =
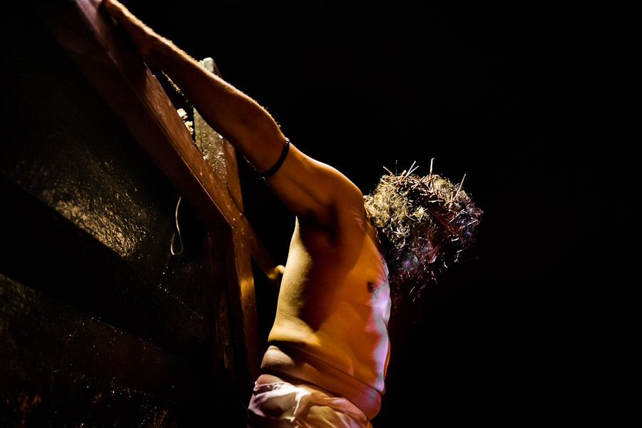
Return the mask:
MULTIPOLYGON (((2 175, 0 194, 11 207, 0 215, 4 224, 11 225, 4 234, 11 245, 0 250, 1 274, 185 359, 207 352, 204 308, 197 312, 180 293, 149 279, 145 266, 123 260, 2 175)), ((194 241, 200 245, 200 238, 191 233, 188 238, 188 245, 194 241)), ((164 263, 159 255, 148 257, 164 263)), ((190 275, 180 267, 162 276, 165 281, 190 281, 194 292, 205 295, 198 292, 205 287, 202 273, 190 275)))

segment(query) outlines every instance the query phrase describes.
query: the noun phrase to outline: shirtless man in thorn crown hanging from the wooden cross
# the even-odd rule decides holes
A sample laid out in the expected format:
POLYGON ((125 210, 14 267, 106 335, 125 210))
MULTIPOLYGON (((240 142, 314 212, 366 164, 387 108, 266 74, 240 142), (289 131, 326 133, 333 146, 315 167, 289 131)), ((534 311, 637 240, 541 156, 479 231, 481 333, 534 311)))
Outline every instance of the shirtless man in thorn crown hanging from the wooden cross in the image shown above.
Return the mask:
POLYGON ((103 5, 145 61, 165 71, 210 126, 265 171, 267 185, 296 215, 248 426, 370 427, 390 355, 391 289, 382 253, 399 260, 391 280, 421 277, 417 272, 429 272, 442 240, 472 235, 476 208, 461 186, 455 193, 452 183, 432 173, 382 178, 378 189, 387 187, 392 199, 405 201, 398 215, 389 195, 364 198, 345 175, 290 144, 253 99, 206 72, 117 1, 103 5), (409 206, 409 192, 423 205, 409 206), (429 218, 434 206, 446 216, 429 218), (410 223, 417 223, 412 229, 421 238, 412 237, 410 223), (437 228, 448 233, 441 237, 437 228))

